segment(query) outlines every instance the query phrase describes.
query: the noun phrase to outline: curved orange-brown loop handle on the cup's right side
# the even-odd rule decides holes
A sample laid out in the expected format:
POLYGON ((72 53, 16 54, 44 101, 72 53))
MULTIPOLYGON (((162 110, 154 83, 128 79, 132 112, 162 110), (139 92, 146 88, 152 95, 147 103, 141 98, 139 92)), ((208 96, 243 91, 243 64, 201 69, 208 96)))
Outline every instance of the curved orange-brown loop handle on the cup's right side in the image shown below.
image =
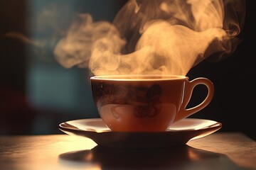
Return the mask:
POLYGON ((213 94, 214 94, 214 86, 213 86, 212 81, 210 81, 209 79, 206 79, 203 77, 193 79, 192 81, 188 81, 188 79, 187 79, 185 81, 183 102, 181 104, 180 111, 178 111, 178 113, 174 119, 174 123, 183 118, 187 118, 189 115, 193 115, 193 113, 201 111, 203 108, 208 106, 210 101, 213 99, 213 94), (202 101, 202 103, 198 104, 197 106, 194 106, 193 108, 186 108, 186 106, 188 105, 188 102, 191 99, 193 89, 199 84, 203 84, 207 87, 208 94, 207 94, 206 98, 204 99, 204 101, 202 101))

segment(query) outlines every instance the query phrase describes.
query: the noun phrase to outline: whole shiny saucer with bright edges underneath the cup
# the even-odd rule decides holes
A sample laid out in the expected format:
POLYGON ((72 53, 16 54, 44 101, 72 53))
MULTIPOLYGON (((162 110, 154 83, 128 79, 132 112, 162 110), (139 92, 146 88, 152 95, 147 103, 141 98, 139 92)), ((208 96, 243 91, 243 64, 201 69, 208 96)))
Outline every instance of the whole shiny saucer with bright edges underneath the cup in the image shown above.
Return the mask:
POLYGON ((105 147, 174 147, 186 145, 210 135, 222 127, 213 120, 186 118, 171 125, 166 132, 112 132, 101 118, 70 120, 60 123, 59 129, 68 135, 88 137, 105 147))

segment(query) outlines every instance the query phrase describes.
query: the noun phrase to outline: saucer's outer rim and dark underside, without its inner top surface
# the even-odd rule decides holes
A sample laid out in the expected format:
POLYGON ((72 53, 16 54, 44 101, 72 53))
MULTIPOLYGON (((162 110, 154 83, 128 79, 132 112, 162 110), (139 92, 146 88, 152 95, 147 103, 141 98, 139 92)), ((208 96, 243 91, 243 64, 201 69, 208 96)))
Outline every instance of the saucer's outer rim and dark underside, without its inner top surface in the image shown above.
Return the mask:
MULTIPOLYGON (((69 120, 64 123, 82 120, 100 120, 101 118, 88 118, 69 120)), ((198 118, 186 118, 190 120, 206 120, 198 118)), ((209 121, 209 120, 207 120, 209 121)), ((197 130, 174 130, 165 132, 113 132, 113 131, 87 131, 75 128, 63 127, 59 124, 59 130, 68 135, 87 137, 97 145, 112 148, 156 148, 156 147, 178 147, 186 145, 188 141, 206 137, 222 128, 222 123, 210 120, 212 124, 197 130), (155 140, 151 140, 151 139, 155 140)))

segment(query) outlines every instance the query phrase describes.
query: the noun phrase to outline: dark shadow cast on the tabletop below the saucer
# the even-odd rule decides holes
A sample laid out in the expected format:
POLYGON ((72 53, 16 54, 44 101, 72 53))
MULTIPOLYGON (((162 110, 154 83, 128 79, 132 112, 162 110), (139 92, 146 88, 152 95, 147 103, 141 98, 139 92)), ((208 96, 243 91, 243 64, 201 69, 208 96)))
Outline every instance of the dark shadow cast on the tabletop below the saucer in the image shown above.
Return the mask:
POLYGON ((100 169, 243 169, 228 157, 184 145, 132 149, 96 146, 59 155, 65 166, 97 166, 100 169))

